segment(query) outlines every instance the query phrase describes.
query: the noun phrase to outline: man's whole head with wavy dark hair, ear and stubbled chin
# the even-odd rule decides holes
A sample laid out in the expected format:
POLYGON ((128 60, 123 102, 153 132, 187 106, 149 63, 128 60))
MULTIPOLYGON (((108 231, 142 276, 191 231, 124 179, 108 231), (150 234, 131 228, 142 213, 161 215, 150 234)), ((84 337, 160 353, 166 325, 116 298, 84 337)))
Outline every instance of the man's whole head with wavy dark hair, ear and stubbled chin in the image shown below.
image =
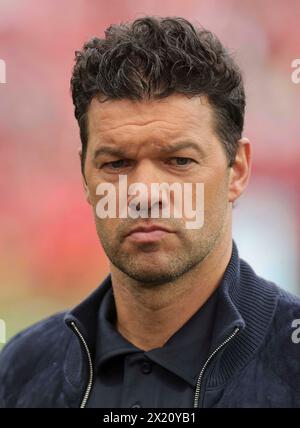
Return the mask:
POLYGON ((144 283, 168 282, 228 234, 231 205, 246 186, 250 152, 241 139, 241 73, 215 36, 182 18, 138 19, 109 27, 105 36, 76 52, 71 80, 87 199, 112 264, 144 283), (128 185, 149 189, 151 183, 204 183, 203 227, 147 219, 170 233, 141 242, 127 234, 146 220, 99 219, 96 188, 118 187, 120 174, 128 185))

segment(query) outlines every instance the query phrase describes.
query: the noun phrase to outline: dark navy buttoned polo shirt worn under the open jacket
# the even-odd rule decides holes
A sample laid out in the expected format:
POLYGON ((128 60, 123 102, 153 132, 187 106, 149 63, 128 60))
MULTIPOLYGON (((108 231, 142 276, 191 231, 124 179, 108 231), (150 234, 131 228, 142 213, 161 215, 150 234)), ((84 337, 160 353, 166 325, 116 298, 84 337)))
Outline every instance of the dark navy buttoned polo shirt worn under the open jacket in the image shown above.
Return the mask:
POLYGON ((197 378, 210 348, 218 290, 164 346, 145 352, 115 328, 110 287, 99 308, 95 381, 86 407, 193 407, 197 378))

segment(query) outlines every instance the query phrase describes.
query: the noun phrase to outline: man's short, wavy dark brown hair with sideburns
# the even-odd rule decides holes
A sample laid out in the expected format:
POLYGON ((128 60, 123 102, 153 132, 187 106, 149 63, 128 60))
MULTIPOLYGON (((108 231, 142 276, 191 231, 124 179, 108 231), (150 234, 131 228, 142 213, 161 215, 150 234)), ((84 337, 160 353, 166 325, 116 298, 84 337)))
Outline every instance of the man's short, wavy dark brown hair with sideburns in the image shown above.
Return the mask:
POLYGON ((147 16, 111 25, 104 39, 94 37, 75 52, 71 92, 82 142, 82 172, 86 114, 98 95, 102 102, 159 99, 173 93, 206 95, 229 166, 234 162, 246 104, 241 71, 213 33, 184 18, 147 16))

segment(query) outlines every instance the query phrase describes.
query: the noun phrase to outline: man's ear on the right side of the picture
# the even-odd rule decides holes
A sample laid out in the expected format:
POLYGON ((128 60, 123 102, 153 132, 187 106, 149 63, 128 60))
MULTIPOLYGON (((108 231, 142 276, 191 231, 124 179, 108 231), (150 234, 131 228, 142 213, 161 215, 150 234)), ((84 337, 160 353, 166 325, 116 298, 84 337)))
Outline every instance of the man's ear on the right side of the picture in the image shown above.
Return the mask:
POLYGON ((248 138, 238 141, 235 160, 230 169, 228 201, 234 202, 247 187, 252 165, 252 148, 248 138))

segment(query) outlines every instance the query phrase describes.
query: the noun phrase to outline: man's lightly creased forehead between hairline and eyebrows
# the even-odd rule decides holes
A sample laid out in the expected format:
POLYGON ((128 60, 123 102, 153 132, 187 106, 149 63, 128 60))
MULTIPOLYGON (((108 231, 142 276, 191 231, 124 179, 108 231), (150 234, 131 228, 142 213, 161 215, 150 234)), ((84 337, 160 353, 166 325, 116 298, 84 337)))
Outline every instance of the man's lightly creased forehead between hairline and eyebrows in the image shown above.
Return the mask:
POLYGON ((178 138, 213 133, 212 108, 204 96, 174 94, 160 100, 107 100, 93 98, 88 110, 89 142, 141 144, 149 139, 162 144, 178 138))

